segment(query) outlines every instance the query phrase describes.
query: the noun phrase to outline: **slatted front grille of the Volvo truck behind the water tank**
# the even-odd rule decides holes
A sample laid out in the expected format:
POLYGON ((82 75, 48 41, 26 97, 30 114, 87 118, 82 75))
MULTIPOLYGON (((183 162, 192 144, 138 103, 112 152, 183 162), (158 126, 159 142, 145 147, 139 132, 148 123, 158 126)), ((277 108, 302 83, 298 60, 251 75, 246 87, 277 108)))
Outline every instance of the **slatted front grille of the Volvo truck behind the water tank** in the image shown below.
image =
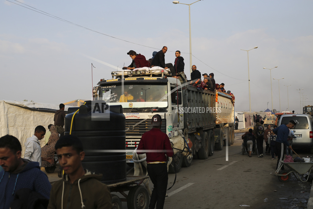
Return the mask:
MULTIPOLYGON (((126 149, 127 147, 137 147, 142 134, 152 128, 151 119, 141 122, 142 119, 126 119, 126 149), (141 122, 141 123, 139 123, 141 122), (139 123, 138 125, 136 125, 139 123), (135 126, 136 125, 136 126, 135 126)), ((162 119, 161 131, 166 133, 166 119, 162 119)))

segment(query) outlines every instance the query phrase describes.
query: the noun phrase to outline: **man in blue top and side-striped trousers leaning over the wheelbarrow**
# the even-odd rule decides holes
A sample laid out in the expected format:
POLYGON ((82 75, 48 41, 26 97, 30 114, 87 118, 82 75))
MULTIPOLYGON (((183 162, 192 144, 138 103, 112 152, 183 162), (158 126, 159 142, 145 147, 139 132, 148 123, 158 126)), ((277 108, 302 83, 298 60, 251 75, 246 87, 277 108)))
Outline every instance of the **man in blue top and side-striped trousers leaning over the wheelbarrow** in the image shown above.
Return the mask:
MULTIPOLYGON (((273 132, 277 135, 275 145, 277 149, 278 159, 277 159, 277 165, 276 165, 276 173, 279 172, 277 169, 281 165, 280 160, 284 160, 284 144, 289 148, 292 149, 290 144, 287 141, 288 135, 289 135, 289 129, 292 129, 295 126, 295 121, 291 120, 287 125, 283 124, 279 127, 275 128, 273 132)), ((284 165, 281 167, 282 170, 284 170, 284 165)))

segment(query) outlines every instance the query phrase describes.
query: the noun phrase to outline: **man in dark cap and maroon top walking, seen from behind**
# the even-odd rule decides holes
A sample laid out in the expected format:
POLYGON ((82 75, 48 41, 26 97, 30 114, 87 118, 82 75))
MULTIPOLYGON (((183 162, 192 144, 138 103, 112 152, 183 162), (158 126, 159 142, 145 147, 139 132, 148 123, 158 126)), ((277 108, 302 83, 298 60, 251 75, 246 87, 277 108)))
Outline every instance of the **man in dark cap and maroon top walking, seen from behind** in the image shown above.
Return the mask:
POLYGON ((167 157, 173 156, 173 149, 166 133, 161 131, 162 120, 159 114, 152 117, 152 129, 142 134, 137 154, 146 153, 147 171, 154 185, 149 208, 162 209, 167 188, 167 157), (140 150, 144 150, 140 152, 140 150))

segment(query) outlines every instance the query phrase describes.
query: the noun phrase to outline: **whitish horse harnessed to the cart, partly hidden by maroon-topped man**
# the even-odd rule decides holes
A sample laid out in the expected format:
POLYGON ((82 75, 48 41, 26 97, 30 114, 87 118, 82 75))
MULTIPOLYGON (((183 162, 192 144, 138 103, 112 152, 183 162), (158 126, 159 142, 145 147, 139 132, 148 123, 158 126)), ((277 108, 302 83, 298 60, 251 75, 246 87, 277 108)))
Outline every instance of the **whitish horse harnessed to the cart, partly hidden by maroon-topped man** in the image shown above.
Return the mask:
MULTIPOLYGON (((192 159, 192 153, 191 153, 190 148, 192 147, 192 143, 188 139, 185 140, 182 133, 180 133, 179 131, 178 131, 178 133, 179 133, 179 135, 173 136, 170 139, 170 142, 171 142, 172 147, 173 147, 174 155, 178 152, 181 152, 183 156, 187 157, 187 160, 191 160, 192 159)), ((133 152, 134 176, 141 176, 141 175, 144 175, 142 166, 147 168, 146 154, 137 154, 136 151, 137 151, 137 147, 133 152)), ((167 171, 168 171, 168 166, 171 163, 172 163, 172 157, 169 157, 168 162, 167 162, 167 171)), ((148 172, 146 172, 146 175, 148 175, 148 172)), ((145 179, 143 181, 143 184, 145 185, 146 189, 149 192, 149 195, 151 196, 152 191, 150 190, 150 187, 149 187, 149 178, 145 179)))

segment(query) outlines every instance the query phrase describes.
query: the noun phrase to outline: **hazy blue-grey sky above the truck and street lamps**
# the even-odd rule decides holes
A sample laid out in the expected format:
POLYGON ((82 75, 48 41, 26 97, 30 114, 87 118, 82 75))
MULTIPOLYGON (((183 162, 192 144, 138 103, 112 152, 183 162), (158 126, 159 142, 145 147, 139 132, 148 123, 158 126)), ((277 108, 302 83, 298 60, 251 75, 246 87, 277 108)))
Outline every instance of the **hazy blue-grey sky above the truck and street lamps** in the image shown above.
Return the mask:
MULTIPOLYGON (((271 70, 273 107, 300 113, 303 103, 313 105, 312 8, 311 0, 196 2, 192 65, 225 84, 235 111, 249 111, 243 50, 257 46, 249 51, 251 110, 272 109, 270 71, 263 68, 278 66, 271 70)), ((130 65, 129 50, 149 59, 164 45, 166 63, 181 51, 190 79, 188 6, 171 0, 1 0, 0 23, 0 100, 90 100, 100 79, 130 65)))

